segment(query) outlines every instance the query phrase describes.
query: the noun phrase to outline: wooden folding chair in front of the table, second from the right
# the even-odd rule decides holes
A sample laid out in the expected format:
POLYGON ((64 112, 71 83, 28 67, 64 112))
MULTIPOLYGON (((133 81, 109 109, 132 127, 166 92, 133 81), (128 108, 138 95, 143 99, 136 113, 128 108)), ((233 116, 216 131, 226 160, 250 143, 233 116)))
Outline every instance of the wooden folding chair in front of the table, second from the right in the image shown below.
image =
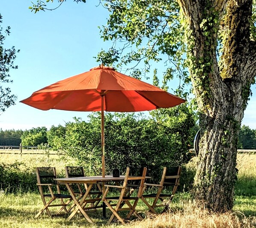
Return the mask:
POLYGON ((143 189, 143 184, 145 182, 145 177, 146 177, 146 167, 143 169, 143 175, 141 176, 131 176, 129 175, 130 169, 127 167, 126 172, 125 172, 125 180, 122 186, 119 185, 105 185, 106 190, 102 196, 102 200, 105 202, 107 207, 113 212, 111 215, 110 219, 108 220, 107 224, 110 224, 113 218, 116 216, 116 218, 122 223, 125 224, 124 220, 119 216, 118 211, 122 210, 129 210, 127 218, 129 219, 131 215, 134 213, 138 218, 142 218, 135 210, 135 207, 138 203, 138 200, 140 199, 142 189, 143 189), (140 187, 137 193, 137 196, 133 197, 130 195, 126 195, 130 187, 128 187, 128 182, 129 181, 140 181, 140 187), (108 197, 107 193, 109 192, 110 188, 117 188, 120 190, 120 195, 116 197, 108 197), (116 201, 115 205, 110 205, 110 202, 116 201), (130 201, 134 201, 133 205, 131 204, 130 201), (123 204, 124 203, 124 204, 123 204), (122 207, 123 205, 128 206, 128 207, 122 207), (115 207, 115 208, 113 208, 115 207))

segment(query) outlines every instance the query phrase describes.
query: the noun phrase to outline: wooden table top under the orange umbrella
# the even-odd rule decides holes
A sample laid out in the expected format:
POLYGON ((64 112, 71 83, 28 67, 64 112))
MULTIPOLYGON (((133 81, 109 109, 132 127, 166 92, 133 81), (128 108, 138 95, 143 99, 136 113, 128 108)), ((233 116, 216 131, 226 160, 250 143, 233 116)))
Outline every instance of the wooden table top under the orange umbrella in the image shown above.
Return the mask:
MULTIPOLYGON (((150 178, 146 176, 146 178, 150 178)), ((89 182, 102 182, 102 181, 123 181, 125 179, 124 175, 119 177, 113 177, 112 175, 102 176, 85 176, 85 177, 69 177, 69 178, 55 178, 55 181, 60 183, 89 183, 89 182)))

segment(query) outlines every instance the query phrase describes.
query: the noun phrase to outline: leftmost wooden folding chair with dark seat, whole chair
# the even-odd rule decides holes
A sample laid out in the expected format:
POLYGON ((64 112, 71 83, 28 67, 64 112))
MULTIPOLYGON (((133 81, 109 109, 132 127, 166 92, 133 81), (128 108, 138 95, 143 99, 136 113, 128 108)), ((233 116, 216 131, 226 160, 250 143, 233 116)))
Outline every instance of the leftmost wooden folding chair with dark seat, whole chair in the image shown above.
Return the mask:
POLYGON ((57 181, 54 181, 54 178, 56 178, 56 169, 54 167, 37 167, 36 168, 36 178, 37 178, 37 185, 39 187, 39 192, 42 198, 42 201, 44 203, 44 207, 42 210, 40 210, 35 217, 38 217, 44 210, 46 210, 46 213, 48 216, 60 216, 63 214, 60 214, 62 210, 65 211, 65 213, 68 213, 69 210, 67 210, 66 206, 72 201, 72 197, 70 195, 61 194, 60 192, 60 186, 57 184, 57 181), (52 187, 56 186, 57 193, 54 193, 54 190, 52 187), (45 194, 46 190, 45 188, 48 187, 50 194, 45 194), (46 198, 50 198, 48 202, 46 202, 46 198), (55 199, 60 199, 60 204, 51 204, 54 202, 55 199), (67 202, 64 202, 63 199, 68 199, 67 202), (50 213, 49 207, 58 207, 61 206, 60 210, 57 211, 56 214, 52 215, 50 213))

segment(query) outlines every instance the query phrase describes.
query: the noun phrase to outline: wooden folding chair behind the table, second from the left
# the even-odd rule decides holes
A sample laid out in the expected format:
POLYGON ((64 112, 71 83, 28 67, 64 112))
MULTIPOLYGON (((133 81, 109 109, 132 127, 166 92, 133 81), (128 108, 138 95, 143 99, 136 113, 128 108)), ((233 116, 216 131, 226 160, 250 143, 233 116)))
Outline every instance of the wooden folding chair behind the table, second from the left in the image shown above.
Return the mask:
MULTIPOLYGON (((81 166, 66 166, 65 174, 66 174, 66 177, 68 178, 85 176, 83 167, 81 166)), ((92 200, 91 200, 91 207, 89 207, 88 209, 97 208, 98 204, 101 202, 100 196, 102 195, 102 189, 99 183, 97 183, 96 186, 97 186, 97 189, 94 189, 89 192, 88 198, 92 200), (92 196, 95 196, 95 197, 92 197, 92 196)), ((80 184, 77 184, 77 189, 78 189, 78 192, 74 192, 74 193, 78 195, 77 200, 79 200, 81 197, 83 197, 85 191, 83 191, 83 187, 81 187, 80 184)), ((84 184, 84 189, 85 190, 88 189, 87 184, 84 184)))

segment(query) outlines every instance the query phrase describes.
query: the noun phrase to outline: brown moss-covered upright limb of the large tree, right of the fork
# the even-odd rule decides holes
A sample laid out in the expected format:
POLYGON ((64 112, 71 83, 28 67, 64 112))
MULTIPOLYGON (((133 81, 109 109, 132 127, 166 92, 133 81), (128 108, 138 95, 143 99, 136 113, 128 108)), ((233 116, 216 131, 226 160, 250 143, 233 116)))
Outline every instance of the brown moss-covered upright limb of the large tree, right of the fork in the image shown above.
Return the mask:
MULTIPOLYGON (((222 79, 238 79, 244 75, 241 69, 244 58, 250 52, 250 18, 252 15, 252 0, 230 0, 227 13, 223 20, 225 35, 223 39, 223 54, 220 61, 222 79)), ((247 76, 246 76, 247 77, 247 76)))

